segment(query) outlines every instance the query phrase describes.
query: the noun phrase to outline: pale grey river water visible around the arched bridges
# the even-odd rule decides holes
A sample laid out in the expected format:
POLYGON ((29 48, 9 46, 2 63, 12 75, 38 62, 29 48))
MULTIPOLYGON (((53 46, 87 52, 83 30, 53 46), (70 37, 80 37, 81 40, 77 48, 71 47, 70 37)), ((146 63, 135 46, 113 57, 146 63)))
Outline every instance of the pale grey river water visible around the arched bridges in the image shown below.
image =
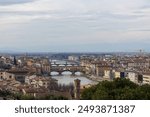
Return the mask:
MULTIPOLYGON (((66 61, 59 61, 59 60, 53 60, 52 62, 55 62, 56 64, 65 64, 66 61)), ((73 64, 72 62, 67 62, 69 64, 73 64)), ((77 72, 75 76, 72 76, 70 72, 63 72, 62 75, 58 75, 57 72, 51 73, 52 78, 58 80, 58 84, 72 84, 74 83, 75 79, 81 80, 81 85, 87 85, 87 84, 95 84, 95 81, 89 80, 87 77, 84 77, 82 73, 77 72)))

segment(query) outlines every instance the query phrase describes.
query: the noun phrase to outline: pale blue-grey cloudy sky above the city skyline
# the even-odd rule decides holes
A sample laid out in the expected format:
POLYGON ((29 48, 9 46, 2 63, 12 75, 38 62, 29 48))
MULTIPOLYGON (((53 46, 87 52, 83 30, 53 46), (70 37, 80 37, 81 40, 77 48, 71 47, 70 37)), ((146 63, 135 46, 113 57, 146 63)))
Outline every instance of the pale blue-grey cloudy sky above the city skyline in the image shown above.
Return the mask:
POLYGON ((149 0, 0 0, 0 52, 150 52, 149 0))

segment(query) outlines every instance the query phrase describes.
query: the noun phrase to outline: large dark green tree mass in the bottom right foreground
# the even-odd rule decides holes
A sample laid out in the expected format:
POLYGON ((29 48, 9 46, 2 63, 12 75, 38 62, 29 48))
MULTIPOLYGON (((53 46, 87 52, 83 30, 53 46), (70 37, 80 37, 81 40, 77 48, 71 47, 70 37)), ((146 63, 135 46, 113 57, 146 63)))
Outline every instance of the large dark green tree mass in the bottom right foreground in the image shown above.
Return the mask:
POLYGON ((81 94, 85 100, 149 100, 150 85, 139 86, 128 79, 102 81, 85 89, 81 94))

